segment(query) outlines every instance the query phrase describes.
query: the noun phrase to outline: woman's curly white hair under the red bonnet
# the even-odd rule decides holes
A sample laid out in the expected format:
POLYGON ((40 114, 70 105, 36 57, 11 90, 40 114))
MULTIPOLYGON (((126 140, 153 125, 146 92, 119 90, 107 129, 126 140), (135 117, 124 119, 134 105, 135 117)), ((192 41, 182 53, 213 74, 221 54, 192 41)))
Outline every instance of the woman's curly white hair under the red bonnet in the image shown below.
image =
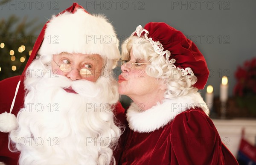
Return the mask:
POLYGON ((164 80, 167 86, 165 98, 176 98, 185 96, 190 92, 197 92, 198 89, 193 87, 197 77, 195 75, 182 76, 179 69, 172 68, 170 64, 166 63, 164 56, 158 55, 154 51, 151 43, 144 36, 140 38, 130 36, 123 42, 122 60, 130 58, 131 48, 135 58, 150 63, 146 67, 146 73, 149 76, 164 80))

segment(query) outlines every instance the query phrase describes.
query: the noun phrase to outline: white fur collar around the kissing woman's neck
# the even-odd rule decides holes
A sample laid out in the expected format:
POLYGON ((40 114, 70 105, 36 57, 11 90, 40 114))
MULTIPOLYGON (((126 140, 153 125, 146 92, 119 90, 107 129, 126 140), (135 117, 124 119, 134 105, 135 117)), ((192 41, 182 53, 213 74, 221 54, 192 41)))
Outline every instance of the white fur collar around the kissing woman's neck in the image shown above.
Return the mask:
POLYGON ((134 102, 127 111, 129 127, 137 132, 152 132, 165 126, 172 121, 178 114, 194 108, 201 107, 209 116, 209 109, 200 93, 190 93, 174 99, 165 99, 162 104, 148 110, 142 110, 142 104, 136 105, 134 102))

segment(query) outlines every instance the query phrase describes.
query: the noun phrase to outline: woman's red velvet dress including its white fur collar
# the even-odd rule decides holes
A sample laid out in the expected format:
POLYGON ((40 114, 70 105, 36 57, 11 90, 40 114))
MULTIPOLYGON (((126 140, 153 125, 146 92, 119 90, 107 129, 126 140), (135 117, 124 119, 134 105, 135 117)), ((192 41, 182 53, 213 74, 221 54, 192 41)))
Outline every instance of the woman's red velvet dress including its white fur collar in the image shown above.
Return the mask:
POLYGON ((142 111, 132 103, 122 165, 237 165, 199 93, 142 111))

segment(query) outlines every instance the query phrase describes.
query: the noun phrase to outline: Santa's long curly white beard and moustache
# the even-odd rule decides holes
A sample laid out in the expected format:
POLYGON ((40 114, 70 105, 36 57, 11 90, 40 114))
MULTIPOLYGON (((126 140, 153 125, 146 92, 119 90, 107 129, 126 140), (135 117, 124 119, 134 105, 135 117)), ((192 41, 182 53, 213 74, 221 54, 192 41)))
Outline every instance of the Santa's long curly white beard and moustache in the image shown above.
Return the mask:
POLYGON ((21 152, 19 163, 109 164, 121 133, 111 106, 117 88, 105 77, 93 83, 57 76, 26 78, 25 107, 9 135, 21 152), (78 94, 63 89, 70 86, 78 94))

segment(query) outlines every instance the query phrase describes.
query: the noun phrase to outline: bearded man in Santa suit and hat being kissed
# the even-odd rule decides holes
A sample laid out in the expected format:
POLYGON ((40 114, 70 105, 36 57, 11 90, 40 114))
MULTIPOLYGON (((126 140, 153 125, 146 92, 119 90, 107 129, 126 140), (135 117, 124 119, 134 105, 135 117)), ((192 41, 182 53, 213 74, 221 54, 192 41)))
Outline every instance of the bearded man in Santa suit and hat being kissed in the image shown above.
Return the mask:
POLYGON ((118 46, 105 17, 77 3, 53 16, 23 74, 0 82, 0 162, 114 163, 124 112, 111 71, 118 46))

